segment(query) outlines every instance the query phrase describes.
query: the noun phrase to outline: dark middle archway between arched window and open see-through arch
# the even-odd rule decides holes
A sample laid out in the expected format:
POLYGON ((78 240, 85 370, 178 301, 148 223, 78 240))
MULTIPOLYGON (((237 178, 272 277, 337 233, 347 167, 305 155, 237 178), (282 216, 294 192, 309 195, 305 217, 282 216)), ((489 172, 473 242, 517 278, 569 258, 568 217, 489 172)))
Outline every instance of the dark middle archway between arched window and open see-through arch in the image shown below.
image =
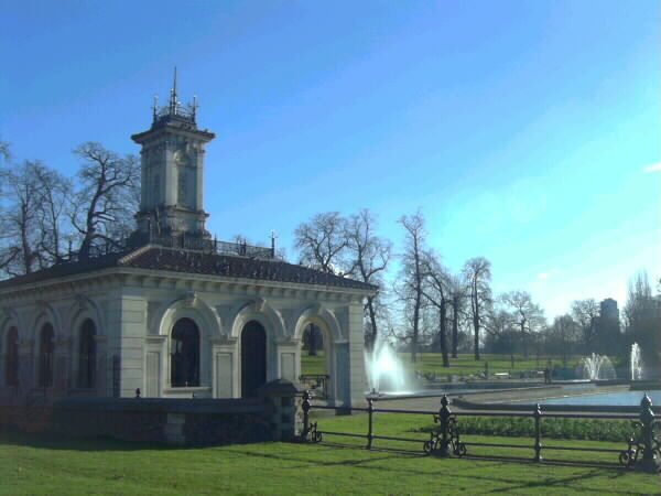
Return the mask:
POLYGON ((254 398, 267 382, 267 332, 256 321, 241 332, 241 397, 254 398))

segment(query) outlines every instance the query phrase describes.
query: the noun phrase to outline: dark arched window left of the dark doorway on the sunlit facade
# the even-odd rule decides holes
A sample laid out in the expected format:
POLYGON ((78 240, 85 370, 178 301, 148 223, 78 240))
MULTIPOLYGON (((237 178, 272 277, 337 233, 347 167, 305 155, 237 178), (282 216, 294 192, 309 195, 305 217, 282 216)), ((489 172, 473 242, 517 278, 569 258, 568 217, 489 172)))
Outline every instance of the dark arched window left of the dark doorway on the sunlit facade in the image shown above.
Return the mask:
POLYGON ((172 387, 199 386, 199 330, 191 319, 174 324, 171 353, 172 387))

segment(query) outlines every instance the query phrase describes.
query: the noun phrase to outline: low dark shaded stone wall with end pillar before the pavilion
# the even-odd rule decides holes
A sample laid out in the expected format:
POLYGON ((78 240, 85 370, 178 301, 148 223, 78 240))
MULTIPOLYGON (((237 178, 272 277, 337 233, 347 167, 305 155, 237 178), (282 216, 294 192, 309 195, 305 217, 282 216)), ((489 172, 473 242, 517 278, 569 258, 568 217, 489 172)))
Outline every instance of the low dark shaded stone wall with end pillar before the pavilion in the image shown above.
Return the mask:
POLYGON ((0 406, 0 425, 180 445, 295 439, 301 431, 299 389, 279 379, 260 393, 253 399, 71 397, 52 406, 0 406))

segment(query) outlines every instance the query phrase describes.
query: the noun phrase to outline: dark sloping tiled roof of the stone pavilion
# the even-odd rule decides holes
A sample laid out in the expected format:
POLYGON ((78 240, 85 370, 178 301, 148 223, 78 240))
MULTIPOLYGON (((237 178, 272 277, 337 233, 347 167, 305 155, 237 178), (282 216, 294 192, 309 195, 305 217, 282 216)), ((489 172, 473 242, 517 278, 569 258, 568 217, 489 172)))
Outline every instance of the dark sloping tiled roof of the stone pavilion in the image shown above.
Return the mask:
POLYGON ((258 281, 330 285, 367 291, 378 289, 378 287, 372 284, 281 260, 235 257, 159 247, 142 247, 129 252, 111 254, 86 261, 57 265, 45 270, 0 281, 0 288, 73 276, 109 267, 133 267, 171 272, 253 279, 258 281))

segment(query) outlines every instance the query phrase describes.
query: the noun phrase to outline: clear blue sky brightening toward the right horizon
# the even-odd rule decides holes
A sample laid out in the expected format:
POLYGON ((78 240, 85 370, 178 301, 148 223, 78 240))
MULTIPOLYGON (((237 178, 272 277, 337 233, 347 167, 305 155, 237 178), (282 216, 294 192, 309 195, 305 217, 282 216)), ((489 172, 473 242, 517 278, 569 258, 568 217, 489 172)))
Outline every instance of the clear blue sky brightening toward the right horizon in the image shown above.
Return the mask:
POLYGON ((137 153, 152 96, 198 95, 219 238, 278 242, 369 207, 400 246, 419 207, 454 270, 549 316, 661 276, 659 2, 6 2, 0 138, 65 173, 137 153), (646 169, 652 169, 646 171, 646 169))

